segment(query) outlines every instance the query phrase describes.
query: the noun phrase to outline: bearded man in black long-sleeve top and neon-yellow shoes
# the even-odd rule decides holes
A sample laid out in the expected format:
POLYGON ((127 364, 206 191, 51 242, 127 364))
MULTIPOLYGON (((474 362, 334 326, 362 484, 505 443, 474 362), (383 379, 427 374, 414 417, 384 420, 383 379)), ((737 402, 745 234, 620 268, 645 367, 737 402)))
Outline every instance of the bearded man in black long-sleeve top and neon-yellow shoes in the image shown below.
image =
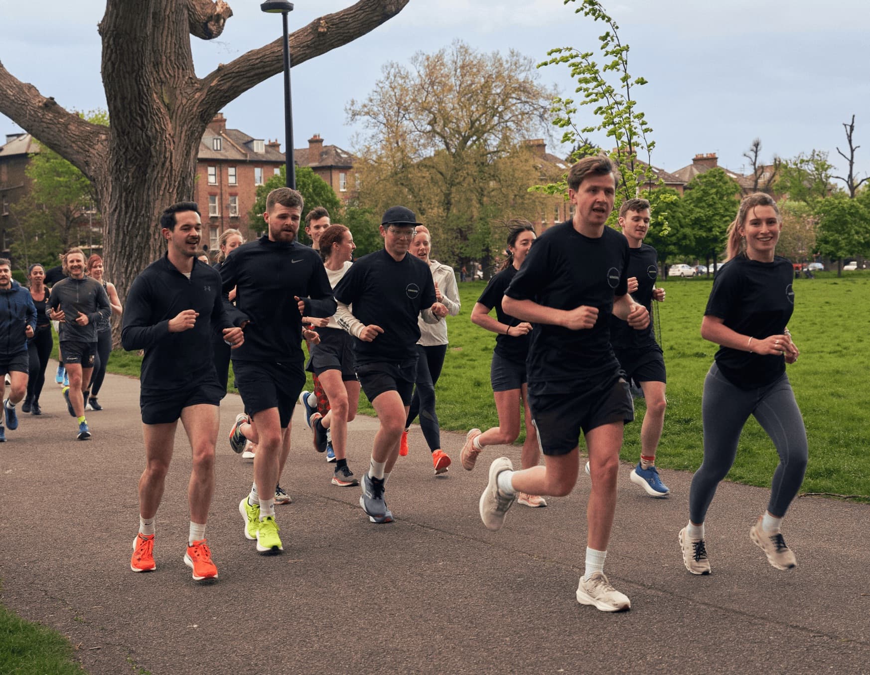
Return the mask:
POLYGON ((264 213, 269 233, 239 246, 220 270, 225 307, 244 328, 232 367, 245 412, 236 418, 230 444, 241 452, 245 439, 258 443, 251 494, 238 510, 245 537, 256 539, 261 553, 283 550, 275 492, 290 452, 293 408, 305 385, 302 316, 331 316, 336 307, 323 261, 296 240, 302 207, 295 190, 272 190, 264 213), (226 299, 233 287, 235 307, 226 299))

